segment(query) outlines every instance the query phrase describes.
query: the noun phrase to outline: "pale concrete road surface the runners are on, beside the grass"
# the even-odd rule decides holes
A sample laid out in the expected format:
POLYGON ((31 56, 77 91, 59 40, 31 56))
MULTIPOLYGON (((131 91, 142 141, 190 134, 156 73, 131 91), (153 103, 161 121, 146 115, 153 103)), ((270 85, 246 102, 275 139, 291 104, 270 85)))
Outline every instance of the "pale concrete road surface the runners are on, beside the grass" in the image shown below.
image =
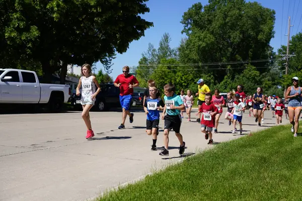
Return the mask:
MULTIPOLYGON (((195 122, 196 111, 192 111, 194 122, 185 118, 181 127, 187 155, 215 146, 207 145, 201 134, 200 124, 195 122)), ((183 159, 174 132, 170 133, 169 157, 159 155, 162 132, 158 151, 150 151, 152 137, 145 133, 145 114, 134 114, 133 124, 127 120, 127 129, 118 130, 121 113, 91 113, 96 134, 91 140, 85 139, 85 124, 79 112, 0 116, 0 200, 86 200, 183 159)), ((255 118, 246 112, 243 134, 274 126, 271 111, 265 116, 269 118, 258 127, 255 118)), ((239 133, 231 134, 233 127, 223 117, 219 134, 213 134, 215 143, 241 137, 239 133)), ((287 123, 283 119, 282 124, 287 123)), ((163 124, 162 120, 161 128, 163 124)))

